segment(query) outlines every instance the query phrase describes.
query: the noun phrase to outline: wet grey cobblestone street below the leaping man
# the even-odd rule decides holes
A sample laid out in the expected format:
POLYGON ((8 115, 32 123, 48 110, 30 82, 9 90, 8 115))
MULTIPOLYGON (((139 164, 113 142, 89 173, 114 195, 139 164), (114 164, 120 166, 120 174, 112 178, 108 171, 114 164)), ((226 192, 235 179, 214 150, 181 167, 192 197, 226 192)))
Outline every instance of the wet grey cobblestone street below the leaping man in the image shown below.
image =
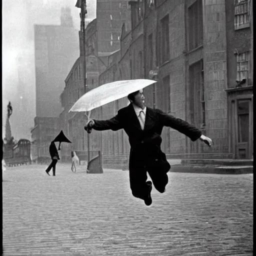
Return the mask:
POLYGON ((148 207, 132 196, 128 171, 45 168, 3 174, 4 256, 252 255, 252 174, 169 172, 148 207))

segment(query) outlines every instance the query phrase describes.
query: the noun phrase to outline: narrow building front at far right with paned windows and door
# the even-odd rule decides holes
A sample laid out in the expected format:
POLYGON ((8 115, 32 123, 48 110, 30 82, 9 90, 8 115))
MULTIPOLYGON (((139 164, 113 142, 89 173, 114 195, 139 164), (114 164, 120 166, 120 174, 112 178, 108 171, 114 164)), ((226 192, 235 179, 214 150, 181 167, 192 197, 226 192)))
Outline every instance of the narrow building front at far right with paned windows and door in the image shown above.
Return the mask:
POLYGON ((234 158, 253 154, 252 0, 227 0, 228 148, 234 158))

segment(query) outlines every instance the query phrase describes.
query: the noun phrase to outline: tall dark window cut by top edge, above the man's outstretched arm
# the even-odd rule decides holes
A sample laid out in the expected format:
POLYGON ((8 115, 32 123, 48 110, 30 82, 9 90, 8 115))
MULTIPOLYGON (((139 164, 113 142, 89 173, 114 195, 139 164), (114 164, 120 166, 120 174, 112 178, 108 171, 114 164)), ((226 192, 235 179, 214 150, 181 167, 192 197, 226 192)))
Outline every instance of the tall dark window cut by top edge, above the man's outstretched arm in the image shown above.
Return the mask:
POLYGON ((188 49, 192 50, 202 45, 202 0, 196 0, 188 8, 188 49))

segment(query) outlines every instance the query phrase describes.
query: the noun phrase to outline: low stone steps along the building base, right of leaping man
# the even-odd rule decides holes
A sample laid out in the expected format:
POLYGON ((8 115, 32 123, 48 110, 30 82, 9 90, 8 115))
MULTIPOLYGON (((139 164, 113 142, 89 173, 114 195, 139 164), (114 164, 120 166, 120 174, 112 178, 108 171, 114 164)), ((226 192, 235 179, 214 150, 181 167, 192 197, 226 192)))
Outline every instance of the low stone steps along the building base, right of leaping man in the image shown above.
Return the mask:
POLYGON ((172 164, 174 159, 168 159, 171 172, 194 172, 216 174, 253 173, 253 159, 180 159, 172 164))

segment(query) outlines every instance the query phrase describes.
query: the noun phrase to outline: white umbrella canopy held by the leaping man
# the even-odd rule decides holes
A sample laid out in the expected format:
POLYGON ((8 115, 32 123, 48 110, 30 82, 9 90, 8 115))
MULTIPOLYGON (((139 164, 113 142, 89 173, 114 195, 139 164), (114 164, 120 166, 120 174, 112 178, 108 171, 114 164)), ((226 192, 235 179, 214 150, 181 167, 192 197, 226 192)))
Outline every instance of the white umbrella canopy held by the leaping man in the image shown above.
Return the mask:
POLYGON ((83 94, 71 107, 70 111, 90 111, 96 107, 127 96, 136 90, 156 81, 149 79, 120 80, 102 84, 83 94))

